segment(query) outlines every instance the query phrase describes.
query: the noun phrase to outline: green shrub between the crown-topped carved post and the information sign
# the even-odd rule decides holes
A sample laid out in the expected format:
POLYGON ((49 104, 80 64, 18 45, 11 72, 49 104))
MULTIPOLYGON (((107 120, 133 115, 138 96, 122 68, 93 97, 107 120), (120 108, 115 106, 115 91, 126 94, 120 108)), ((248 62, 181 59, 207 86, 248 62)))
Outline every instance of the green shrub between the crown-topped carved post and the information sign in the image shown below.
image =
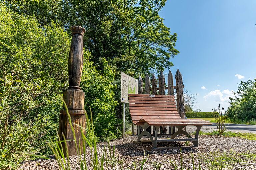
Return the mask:
POLYGON ((115 139, 121 136, 119 125, 121 120, 116 118, 114 99, 115 70, 102 59, 104 67, 97 71, 93 62, 89 61, 90 53, 84 53, 84 68, 82 73, 81 88, 85 92, 85 109, 89 113, 92 108, 95 133, 102 141, 115 139))

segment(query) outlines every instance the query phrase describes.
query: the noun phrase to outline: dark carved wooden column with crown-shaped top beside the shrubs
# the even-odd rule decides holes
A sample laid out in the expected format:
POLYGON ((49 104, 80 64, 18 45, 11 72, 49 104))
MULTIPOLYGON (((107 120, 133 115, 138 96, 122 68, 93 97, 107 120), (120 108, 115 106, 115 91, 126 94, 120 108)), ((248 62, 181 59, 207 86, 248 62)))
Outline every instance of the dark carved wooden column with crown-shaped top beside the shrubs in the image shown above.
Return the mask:
MULTIPOLYGON (((63 100, 65 101, 68 112, 70 114, 71 122, 74 123, 72 126, 76 132, 76 143, 73 140, 73 132, 71 130, 71 125, 68 121, 68 115, 66 113, 64 103, 63 109, 60 110, 60 120, 59 120, 59 136, 60 140, 64 140, 62 134, 65 136, 67 141, 67 150, 69 156, 77 155, 80 153, 79 143, 81 148, 83 148, 82 136, 80 127, 77 125, 86 128, 86 116, 84 110, 84 92, 81 90, 80 82, 82 76, 83 69, 83 34, 84 28, 80 26, 72 26, 72 40, 69 51, 68 58, 68 78, 69 78, 69 87, 63 93, 63 100), (77 124, 77 125, 75 125, 77 124), (77 145, 77 147, 76 147, 77 145)), ((82 130, 85 133, 85 130, 82 130)), ((64 142, 61 143, 64 151, 64 155, 66 156, 66 146, 64 142)), ((83 150, 81 150, 81 154, 83 150)))

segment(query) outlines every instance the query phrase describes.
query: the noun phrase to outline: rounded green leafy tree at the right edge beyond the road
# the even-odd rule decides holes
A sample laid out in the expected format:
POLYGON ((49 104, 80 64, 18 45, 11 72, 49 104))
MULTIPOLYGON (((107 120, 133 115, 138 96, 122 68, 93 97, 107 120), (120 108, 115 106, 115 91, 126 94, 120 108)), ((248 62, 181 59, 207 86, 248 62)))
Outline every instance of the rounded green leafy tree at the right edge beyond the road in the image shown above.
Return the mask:
POLYGON ((234 92, 235 98, 230 99, 227 116, 230 119, 251 121, 256 119, 256 79, 239 83, 234 92))

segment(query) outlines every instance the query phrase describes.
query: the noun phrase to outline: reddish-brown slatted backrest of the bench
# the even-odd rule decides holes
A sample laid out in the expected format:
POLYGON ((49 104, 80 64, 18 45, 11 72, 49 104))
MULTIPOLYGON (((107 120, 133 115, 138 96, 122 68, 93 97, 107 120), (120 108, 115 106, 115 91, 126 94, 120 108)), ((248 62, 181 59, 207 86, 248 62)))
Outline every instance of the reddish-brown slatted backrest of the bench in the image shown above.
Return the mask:
POLYGON ((177 112, 174 96, 128 94, 129 109, 134 124, 144 120, 181 119, 177 112))

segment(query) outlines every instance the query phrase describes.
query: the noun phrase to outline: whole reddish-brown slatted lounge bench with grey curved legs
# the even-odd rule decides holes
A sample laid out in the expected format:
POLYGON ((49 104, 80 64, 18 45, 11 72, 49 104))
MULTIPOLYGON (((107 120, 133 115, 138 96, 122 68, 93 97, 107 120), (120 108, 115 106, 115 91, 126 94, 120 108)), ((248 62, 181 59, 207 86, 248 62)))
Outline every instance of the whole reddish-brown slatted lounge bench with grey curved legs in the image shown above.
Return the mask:
POLYGON ((167 95, 149 95, 149 94, 128 94, 129 109, 134 125, 141 126, 143 131, 138 135, 138 141, 146 135, 153 143, 153 147, 157 148, 157 142, 172 141, 191 141, 194 146, 198 147, 198 135, 203 125, 212 125, 201 119, 181 119, 178 114, 174 96, 167 95), (186 126, 196 126, 195 138, 183 130, 186 126), (152 135, 146 131, 149 126, 156 128, 154 139, 152 135), (178 128, 171 139, 157 140, 158 130, 160 126, 175 126, 178 128), (174 139, 178 134, 184 134, 186 139, 174 139))

